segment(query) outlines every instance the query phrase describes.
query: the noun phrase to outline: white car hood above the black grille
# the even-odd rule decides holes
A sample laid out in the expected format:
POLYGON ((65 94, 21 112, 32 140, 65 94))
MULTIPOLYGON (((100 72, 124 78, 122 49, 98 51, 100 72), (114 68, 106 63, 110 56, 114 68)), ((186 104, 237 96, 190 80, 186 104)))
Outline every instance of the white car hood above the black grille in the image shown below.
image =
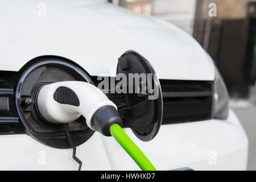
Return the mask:
POLYGON ((212 59, 173 24, 102 1, 41 2, 0 0, 1 70, 19 71, 35 57, 55 55, 90 75, 114 76, 118 57, 133 49, 159 78, 214 80, 212 59))

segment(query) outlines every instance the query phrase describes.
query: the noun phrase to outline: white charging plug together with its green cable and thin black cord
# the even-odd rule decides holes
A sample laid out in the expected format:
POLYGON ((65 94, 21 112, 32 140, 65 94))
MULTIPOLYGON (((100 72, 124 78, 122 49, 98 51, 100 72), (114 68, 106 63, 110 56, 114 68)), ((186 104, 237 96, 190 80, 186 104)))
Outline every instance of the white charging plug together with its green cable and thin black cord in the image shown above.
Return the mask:
POLYGON ((96 86, 81 81, 45 85, 39 90, 36 105, 42 117, 48 122, 65 123, 67 138, 73 148, 73 159, 79 163, 79 170, 82 162, 76 157, 76 147, 67 123, 75 121, 81 115, 85 117, 90 129, 105 136, 113 136, 141 169, 155 170, 143 152, 120 127, 122 119, 117 112, 117 106, 96 86))

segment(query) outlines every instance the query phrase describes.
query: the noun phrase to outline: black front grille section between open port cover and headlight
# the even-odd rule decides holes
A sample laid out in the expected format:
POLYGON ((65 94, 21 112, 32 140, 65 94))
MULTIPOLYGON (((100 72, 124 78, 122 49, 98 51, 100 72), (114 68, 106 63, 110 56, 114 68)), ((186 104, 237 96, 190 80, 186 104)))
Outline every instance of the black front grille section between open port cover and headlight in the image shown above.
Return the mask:
POLYGON ((212 81, 160 80, 163 124, 211 118, 212 81))

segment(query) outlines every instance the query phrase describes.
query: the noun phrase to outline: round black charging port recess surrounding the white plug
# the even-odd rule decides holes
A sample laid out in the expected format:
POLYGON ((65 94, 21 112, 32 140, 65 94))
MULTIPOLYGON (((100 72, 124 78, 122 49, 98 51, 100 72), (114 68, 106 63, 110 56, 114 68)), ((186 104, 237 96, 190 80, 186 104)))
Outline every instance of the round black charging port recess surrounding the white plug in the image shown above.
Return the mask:
MULTIPOLYGON (((16 88, 16 107, 26 133, 40 142, 56 148, 71 148, 63 125, 49 123, 34 102, 42 86, 59 81, 85 81, 93 84, 90 77, 76 65, 60 59, 42 59, 23 72, 16 88)), ((75 146, 86 142, 94 131, 79 117, 68 124, 75 146)))

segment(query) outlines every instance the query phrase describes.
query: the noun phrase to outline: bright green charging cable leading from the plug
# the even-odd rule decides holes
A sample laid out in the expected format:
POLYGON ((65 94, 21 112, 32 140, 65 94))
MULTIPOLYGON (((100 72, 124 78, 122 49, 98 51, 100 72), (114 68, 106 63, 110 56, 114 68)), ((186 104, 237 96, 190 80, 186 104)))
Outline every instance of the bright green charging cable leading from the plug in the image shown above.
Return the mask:
POLYGON ((123 131, 121 126, 113 124, 109 127, 109 132, 143 171, 156 171, 155 167, 123 131))

